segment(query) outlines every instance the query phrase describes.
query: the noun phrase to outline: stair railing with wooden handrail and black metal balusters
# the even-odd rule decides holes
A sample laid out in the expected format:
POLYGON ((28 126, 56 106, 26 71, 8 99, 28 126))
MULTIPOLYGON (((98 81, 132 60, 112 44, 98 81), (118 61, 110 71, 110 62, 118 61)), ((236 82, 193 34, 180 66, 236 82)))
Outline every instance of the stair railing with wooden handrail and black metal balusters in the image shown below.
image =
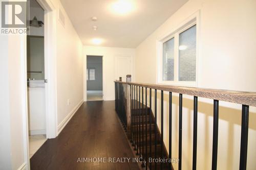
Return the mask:
MULTIPOLYGON (((178 131, 178 136, 179 136, 179 165, 178 168, 182 168, 182 95, 187 94, 187 95, 192 95, 194 96, 194 116, 193 116, 193 169, 195 169, 196 164, 197 164, 197 126, 198 126, 198 97, 201 98, 208 98, 208 99, 213 99, 214 102, 214 107, 213 107, 213 133, 212 133, 212 161, 211 161, 211 167, 212 169, 216 170, 217 169, 217 160, 218 160, 218 131, 219 131, 219 101, 226 101, 226 102, 231 102, 231 103, 237 103, 242 105, 242 121, 241 121, 241 144, 240 144, 240 169, 246 169, 246 164, 247 164, 247 150, 248 150, 248 129, 249 129, 249 106, 256 106, 256 92, 243 92, 243 91, 231 91, 231 90, 218 90, 218 89, 207 89, 207 88, 196 88, 196 87, 183 87, 183 86, 169 86, 169 85, 157 85, 157 84, 146 84, 146 83, 135 83, 135 82, 121 82, 121 81, 115 81, 115 90, 116 93, 118 93, 120 96, 119 98, 116 98, 116 103, 117 104, 123 104, 122 100, 125 99, 124 95, 129 95, 127 93, 123 93, 123 88, 130 88, 130 95, 131 95, 131 101, 126 100, 127 102, 131 102, 131 121, 130 125, 125 125, 126 127, 130 127, 131 130, 131 142, 134 145, 134 150, 137 151, 137 155, 140 155, 142 157, 142 160, 145 160, 142 163, 143 166, 147 166, 148 160, 147 160, 147 150, 144 152, 144 148, 147 149, 147 134, 144 135, 144 131, 150 132, 150 155, 152 153, 155 153, 155 158, 156 158, 156 153, 159 152, 159 148, 157 145, 161 147, 161 156, 160 158, 165 158, 167 156, 167 152, 164 152, 164 140, 163 140, 163 134, 164 129, 163 124, 164 124, 164 109, 163 109, 163 91, 168 91, 169 95, 169 100, 168 100, 168 114, 169 114, 169 153, 172 153, 172 95, 173 92, 179 93, 179 112, 178 112, 178 117, 179 119, 176 121, 179 121, 179 128, 177 129, 178 131), (119 88, 117 88, 119 87, 119 88), (138 88, 139 87, 139 88, 138 88), (144 87, 144 88, 143 88, 144 87), (146 90, 147 88, 148 90, 146 90), (121 89, 121 92, 119 92, 121 89), (143 90, 145 89, 145 95, 143 95, 143 90), (152 101, 152 90, 155 91, 155 97, 154 101, 152 101), (157 99, 157 90, 161 90, 161 98, 160 103, 158 103, 157 99), (145 108, 147 107, 147 91, 150 92, 149 100, 149 109, 143 109, 143 106, 145 105, 145 108), (143 99, 145 99, 145 104, 143 102, 143 99), (121 102, 120 102, 121 101, 121 102), (154 116, 153 114, 150 115, 148 113, 153 113, 152 110, 152 103, 155 102, 154 108, 154 116), (159 104, 160 112, 157 111, 157 105, 159 104), (142 106, 142 107, 141 107, 142 106), (158 112, 158 113, 157 113, 158 112), (158 114, 158 115, 157 115, 158 114), (160 116, 160 124, 158 125, 157 117, 160 116), (152 122, 151 117, 155 117, 154 121, 152 122), (149 127, 150 130, 147 131, 147 123, 149 118, 149 127), (145 126, 144 126, 145 123, 145 126), (152 132, 152 123, 154 123, 154 129, 155 131, 152 132), (158 126, 161 127, 161 132, 157 131, 158 126), (142 132, 142 134, 141 134, 142 132), (154 133, 155 138, 154 142, 155 144, 152 145, 152 134, 154 133), (158 137, 157 134, 161 134, 158 137), (145 143, 144 143, 144 136, 145 138, 145 143), (159 141, 159 138, 160 141, 159 141), (142 139, 142 140, 141 140, 142 139), (142 147, 141 147, 142 146, 142 147), (153 147, 155 149, 153 149, 153 147), (158 149, 157 149, 158 148, 158 149), (152 151, 154 150, 154 151, 152 151)), ((128 90, 129 91, 129 90, 128 90)), ((117 96, 117 95, 116 95, 117 96)), ((159 96, 160 97, 160 96, 159 96)), ((121 105, 120 107, 126 107, 126 105, 121 105)), ((127 117, 125 115, 128 115, 127 112, 122 111, 122 110, 117 110, 117 113, 119 117, 127 117)), ((176 113, 176 112, 175 112, 176 113)), ((168 155, 169 158, 172 158, 171 154, 168 155)), ((154 167, 156 169, 163 169, 163 167, 166 168, 166 164, 163 164, 161 162, 160 164, 155 162, 154 167)), ((150 169, 152 169, 152 164, 150 164, 150 169)), ((168 164, 168 169, 173 169, 172 164, 168 164)))

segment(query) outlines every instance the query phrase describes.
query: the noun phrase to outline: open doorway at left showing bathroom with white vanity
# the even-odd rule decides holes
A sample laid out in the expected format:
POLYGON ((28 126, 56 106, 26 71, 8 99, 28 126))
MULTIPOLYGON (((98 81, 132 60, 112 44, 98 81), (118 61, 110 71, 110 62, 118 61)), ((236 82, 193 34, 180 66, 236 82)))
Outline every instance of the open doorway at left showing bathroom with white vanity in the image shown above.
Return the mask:
POLYGON ((27 33, 27 91, 29 157, 46 141, 45 90, 45 11, 35 1, 29 1, 29 31, 27 33))

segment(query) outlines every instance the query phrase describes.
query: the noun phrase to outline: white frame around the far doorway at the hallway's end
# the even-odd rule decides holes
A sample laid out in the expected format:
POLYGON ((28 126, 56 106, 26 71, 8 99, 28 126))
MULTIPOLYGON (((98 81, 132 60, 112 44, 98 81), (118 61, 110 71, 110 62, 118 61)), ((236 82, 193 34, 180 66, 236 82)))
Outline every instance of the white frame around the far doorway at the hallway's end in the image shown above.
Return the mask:
POLYGON ((86 54, 84 55, 84 60, 83 60, 83 101, 87 101, 87 56, 98 56, 102 57, 102 100, 104 101, 105 99, 105 61, 104 61, 104 55, 96 55, 96 54, 86 54))

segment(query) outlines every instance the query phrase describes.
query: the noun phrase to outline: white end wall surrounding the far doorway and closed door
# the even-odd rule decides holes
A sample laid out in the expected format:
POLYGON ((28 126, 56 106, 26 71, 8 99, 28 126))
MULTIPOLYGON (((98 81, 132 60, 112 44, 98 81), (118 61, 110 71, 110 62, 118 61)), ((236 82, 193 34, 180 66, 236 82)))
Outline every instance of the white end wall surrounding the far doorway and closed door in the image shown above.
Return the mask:
MULTIPOLYGON (((99 46, 84 46, 83 57, 84 65, 87 65, 86 56, 103 56, 103 92, 104 100, 115 100, 115 84, 114 81, 117 79, 115 73, 115 57, 130 56, 132 62, 135 57, 134 48, 116 48, 116 47, 99 47, 99 46)), ((133 64, 132 64, 133 65, 133 64)), ((132 68, 132 79, 134 80, 134 71, 132 68)), ((84 83, 83 83, 83 99, 87 100, 87 84, 86 84, 86 67, 84 67, 84 83)))

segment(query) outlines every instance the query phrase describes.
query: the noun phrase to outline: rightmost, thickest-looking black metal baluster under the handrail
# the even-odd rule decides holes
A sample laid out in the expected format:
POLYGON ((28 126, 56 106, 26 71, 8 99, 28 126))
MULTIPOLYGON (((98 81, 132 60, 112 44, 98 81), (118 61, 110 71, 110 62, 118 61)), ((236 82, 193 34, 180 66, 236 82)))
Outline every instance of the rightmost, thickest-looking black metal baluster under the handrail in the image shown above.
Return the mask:
POLYGON ((246 169, 247 147, 248 147, 248 127, 249 127, 249 106, 242 105, 240 165, 239 165, 240 170, 246 169))

